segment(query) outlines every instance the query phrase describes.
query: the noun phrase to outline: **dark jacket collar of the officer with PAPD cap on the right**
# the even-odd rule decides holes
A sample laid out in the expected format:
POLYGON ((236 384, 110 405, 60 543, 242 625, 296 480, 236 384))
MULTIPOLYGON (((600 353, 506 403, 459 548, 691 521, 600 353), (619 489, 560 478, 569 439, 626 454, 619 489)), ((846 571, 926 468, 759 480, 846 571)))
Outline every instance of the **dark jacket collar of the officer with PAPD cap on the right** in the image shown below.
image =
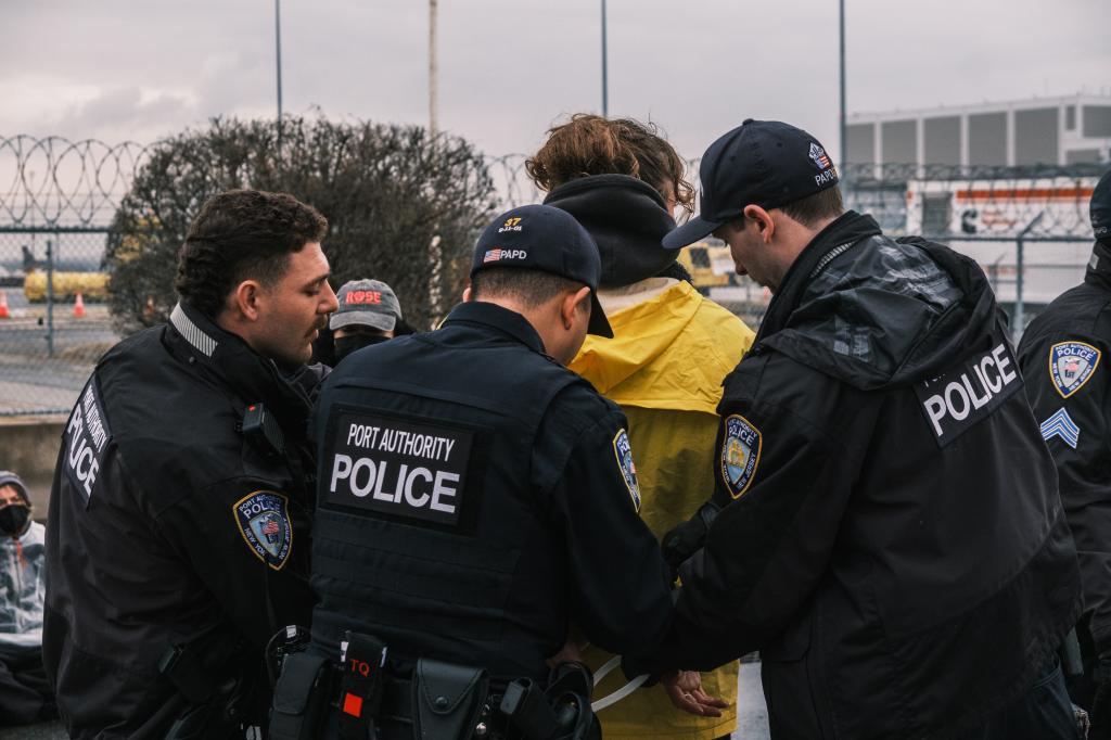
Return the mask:
POLYGON ((783 284, 768 304, 754 343, 787 326, 791 313, 799 307, 807 284, 818 277, 833 258, 843 254, 860 240, 879 233, 882 232, 875 219, 855 211, 845 211, 819 231, 783 276, 783 284))

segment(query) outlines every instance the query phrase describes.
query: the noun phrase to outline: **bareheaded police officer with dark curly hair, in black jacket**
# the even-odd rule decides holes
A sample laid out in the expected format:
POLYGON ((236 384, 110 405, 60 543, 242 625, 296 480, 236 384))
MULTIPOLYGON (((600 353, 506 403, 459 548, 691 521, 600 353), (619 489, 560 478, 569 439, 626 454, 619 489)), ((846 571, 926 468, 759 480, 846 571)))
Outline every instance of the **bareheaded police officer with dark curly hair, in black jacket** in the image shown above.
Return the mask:
POLYGON ((337 308, 327 222, 290 196, 211 198, 170 322, 98 362, 73 407, 47 531, 43 653, 71 737, 242 737, 262 652, 307 624, 306 442, 337 308))

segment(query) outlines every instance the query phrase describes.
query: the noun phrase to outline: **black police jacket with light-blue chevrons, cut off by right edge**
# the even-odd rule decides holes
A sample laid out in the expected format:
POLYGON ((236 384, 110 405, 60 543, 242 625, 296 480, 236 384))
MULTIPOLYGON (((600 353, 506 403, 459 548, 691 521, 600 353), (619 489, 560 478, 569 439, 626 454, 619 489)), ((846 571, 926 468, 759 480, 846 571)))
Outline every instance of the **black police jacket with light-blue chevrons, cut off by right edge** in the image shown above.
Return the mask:
POLYGON ((1111 249, 1097 243, 1084 282, 1030 322, 1019 363, 1057 461, 1097 653, 1111 651, 1111 249))

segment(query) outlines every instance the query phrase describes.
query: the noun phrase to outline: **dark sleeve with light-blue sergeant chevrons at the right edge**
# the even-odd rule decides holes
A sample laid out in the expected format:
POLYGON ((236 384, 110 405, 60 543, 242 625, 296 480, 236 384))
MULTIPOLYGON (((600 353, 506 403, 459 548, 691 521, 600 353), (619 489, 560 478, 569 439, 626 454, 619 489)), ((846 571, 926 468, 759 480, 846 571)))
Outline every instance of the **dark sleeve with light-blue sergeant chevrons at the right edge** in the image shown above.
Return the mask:
POLYGON ((1034 419, 1057 464, 1061 504, 1077 542, 1084 611, 1098 652, 1111 651, 1111 371, 1108 346, 1087 332, 1023 338, 1019 364, 1034 419), (1050 374, 1054 344, 1083 342, 1100 351, 1094 371, 1064 398, 1050 374), (1061 410, 1079 430, 1072 438, 1061 410), (1071 444, 1075 441, 1075 447, 1071 444))

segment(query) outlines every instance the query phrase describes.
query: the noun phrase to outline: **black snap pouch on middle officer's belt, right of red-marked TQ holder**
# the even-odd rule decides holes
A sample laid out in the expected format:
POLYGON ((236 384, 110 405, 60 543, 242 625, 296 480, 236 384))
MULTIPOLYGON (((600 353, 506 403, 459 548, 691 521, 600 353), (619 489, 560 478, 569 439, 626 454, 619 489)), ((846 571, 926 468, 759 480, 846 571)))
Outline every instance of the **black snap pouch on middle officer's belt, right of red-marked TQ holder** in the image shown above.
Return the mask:
POLYGON ((481 668, 421 658, 413 672, 414 740, 466 740, 474 732, 489 679, 481 668))

